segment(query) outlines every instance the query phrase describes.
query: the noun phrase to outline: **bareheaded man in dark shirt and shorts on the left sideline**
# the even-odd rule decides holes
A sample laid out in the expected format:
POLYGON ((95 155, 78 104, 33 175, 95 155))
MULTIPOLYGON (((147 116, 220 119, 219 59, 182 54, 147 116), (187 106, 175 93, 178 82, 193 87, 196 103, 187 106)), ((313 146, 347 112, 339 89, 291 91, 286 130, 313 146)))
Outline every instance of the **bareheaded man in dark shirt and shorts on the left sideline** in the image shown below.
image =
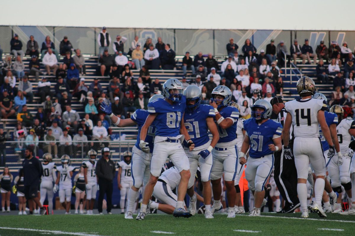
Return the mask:
POLYGON ((44 215, 47 211, 38 198, 38 186, 39 180, 43 175, 43 167, 39 160, 33 157, 33 150, 31 148, 26 148, 24 154, 25 159, 22 161, 24 196, 28 201, 29 214, 33 214, 34 203, 36 203, 41 208, 41 214, 44 215))

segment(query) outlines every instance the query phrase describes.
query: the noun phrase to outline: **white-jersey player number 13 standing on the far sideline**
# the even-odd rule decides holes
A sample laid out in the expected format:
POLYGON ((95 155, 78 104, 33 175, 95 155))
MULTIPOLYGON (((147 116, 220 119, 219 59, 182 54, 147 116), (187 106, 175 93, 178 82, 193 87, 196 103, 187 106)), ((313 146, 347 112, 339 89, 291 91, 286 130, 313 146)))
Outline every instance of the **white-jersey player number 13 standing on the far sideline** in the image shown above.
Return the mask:
POLYGON ((86 214, 92 215, 92 210, 94 209, 96 193, 97 193, 97 177, 95 173, 96 169, 96 156, 97 152, 93 149, 88 151, 89 160, 83 161, 82 166, 84 167, 84 178, 86 184, 86 200, 88 203, 88 209, 86 214))

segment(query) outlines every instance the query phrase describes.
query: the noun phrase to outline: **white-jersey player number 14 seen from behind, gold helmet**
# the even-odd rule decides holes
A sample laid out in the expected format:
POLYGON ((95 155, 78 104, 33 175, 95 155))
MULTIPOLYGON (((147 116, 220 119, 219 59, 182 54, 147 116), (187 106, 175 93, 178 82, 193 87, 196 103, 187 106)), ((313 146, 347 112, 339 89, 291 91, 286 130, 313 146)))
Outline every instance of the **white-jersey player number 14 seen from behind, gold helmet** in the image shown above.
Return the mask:
MULTIPOLYGON (((324 178, 326 177, 326 160, 323 156, 323 148, 319 135, 321 126, 324 137, 329 144, 328 158, 334 156, 335 147, 331 133, 324 117, 327 105, 321 99, 313 99, 311 96, 316 90, 314 81, 307 76, 297 81, 297 92, 300 99, 286 102, 285 110, 290 114, 286 116, 283 128, 284 154, 285 158, 292 158, 294 155, 297 169, 297 194, 301 203, 301 217, 308 217, 307 209, 307 178, 308 163, 316 175, 315 198, 313 210, 320 217, 327 217, 322 208, 322 196, 324 191, 324 178), (294 147, 293 153, 289 147, 289 130, 291 124, 294 126, 294 147)), ((341 152, 338 152, 341 156, 341 152)))

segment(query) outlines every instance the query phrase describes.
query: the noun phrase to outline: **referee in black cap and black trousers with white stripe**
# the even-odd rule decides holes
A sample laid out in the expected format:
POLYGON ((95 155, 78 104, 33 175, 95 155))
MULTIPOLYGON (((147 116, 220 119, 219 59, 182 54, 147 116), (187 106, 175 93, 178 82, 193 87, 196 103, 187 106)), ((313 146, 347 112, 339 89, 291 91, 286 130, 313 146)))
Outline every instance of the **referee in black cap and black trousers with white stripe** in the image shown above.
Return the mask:
MULTIPOLYGON (((284 126, 284 120, 286 118, 287 111, 285 110, 285 104, 282 98, 274 97, 271 99, 273 115, 272 118, 281 123, 284 126)), ((291 150, 293 150, 293 127, 290 129, 291 140, 289 142, 291 150)), ((282 142, 283 144, 283 142, 282 142)), ((292 213, 300 206, 300 201, 297 197, 297 171, 294 159, 286 159, 284 152, 275 152, 274 162, 274 179, 280 194, 285 200, 284 208, 278 213, 292 213)))

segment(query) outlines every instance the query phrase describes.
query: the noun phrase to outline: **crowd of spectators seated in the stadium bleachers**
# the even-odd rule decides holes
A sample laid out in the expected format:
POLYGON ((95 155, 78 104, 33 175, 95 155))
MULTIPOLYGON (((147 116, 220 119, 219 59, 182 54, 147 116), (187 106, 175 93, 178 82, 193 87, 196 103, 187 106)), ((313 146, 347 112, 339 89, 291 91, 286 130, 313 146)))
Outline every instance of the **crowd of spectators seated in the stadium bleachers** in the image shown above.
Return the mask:
MULTIPOLYGON (((162 91, 160 80, 152 78, 149 73, 149 70, 159 69, 181 69, 184 73, 183 86, 194 84, 200 87, 202 103, 206 104, 214 87, 228 86, 233 100, 241 107, 242 117, 247 119, 251 115, 250 106, 256 100, 271 100, 276 94, 283 96, 280 68, 285 64, 284 58, 286 63, 290 63, 291 58, 294 63, 301 59, 302 64, 316 64, 318 58, 316 69, 319 81, 328 84, 329 79, 333 80, 330 104, 348 106, 348 112, 354 114, 351 108, 355 107, 355 65, 353 53, 346 42, 341 47, 332 42, 332 46, 327 48, 321 41, 313 52, 307 39, 303 46, 294 40, 289 53, 283 41, 274 45, 274 40, 271 40, 265 50, 257 53, 255 46, 247 39, 242 46, 243 55, 239 55, 239 45, 231 38, 226 45, 227 56, 222 65, 219 66, 211 53, 199 52, 192 57, 186 52, 181 68, 169 42, 163 42, 160 37, 148 38, 142 46, 136 36, 129 51, 125 52, 127 38, 117 35, 116 40, 111 42, 109 32, 103 27, 97 42, 97 77, 93 82, 86 82, 83 77, 86 75, 85 58, 80 49, 74 49, 67 36, 64 36, 57 50, 49 36, 42 44, 30 36, 24 47, 18 35, 14 34, 10 42, 11 54, 3 59, 0 49, 1 119, 5 122, 11 118, 17 120, 13 137, 5 140, 25 141, 18 143, 17 148, 24 149, 31 145, 54 156, 64 152, 75 155, 80 145, 78 140, 100 140, 102 145, 108 145, 105 141, 109 140, 112 124, 108 116, 100 113, 98 104, 111 102, 113 112, 121 119, 130 117, 136 109, 146 109, 149 97, 162 91), (155 45, 153 40, 157 40, 155 45), (113 55, 109 54, 109 47, 113 48, 113 55), (22 61, 25 55, 31 57, 28 69, 22 61), (133 76, 132 70, 138 70, 139 75, 133 76), (107 89, 100 84, 104 81, 109 83, 107 89), (33 83, 37 82, 38 90, 34 90, 33 83), (51 88, 53 84, 54 91, 51 88), (73 97, 82 104, 84 114, 81 116, 71 107, 73 97), (32 103, 38 103, 35 115, 28 111, 27 104, 32 103), (38 141, 45 141, 45 144, 38 141)), ((89 142, 86 145, 85 150, 94 145, 97 149, 100 144, 89 142)), ((1 155, 3 150, 0 151, 1 155)))

